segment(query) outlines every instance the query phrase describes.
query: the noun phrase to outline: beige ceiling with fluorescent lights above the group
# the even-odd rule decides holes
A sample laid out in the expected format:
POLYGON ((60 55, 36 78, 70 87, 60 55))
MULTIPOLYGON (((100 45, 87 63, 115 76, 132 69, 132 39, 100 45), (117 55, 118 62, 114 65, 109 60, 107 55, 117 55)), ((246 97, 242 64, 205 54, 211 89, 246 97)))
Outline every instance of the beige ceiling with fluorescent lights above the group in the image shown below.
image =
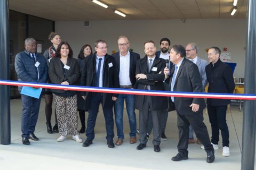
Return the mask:
POLYGON ((161 19, 244 19, 247 0, 101 0, 103 8, 91 0, 9 0, 10 10, 53 21, 161 20, 161 19), (123 18, 113 11, 126 14, 123 18))

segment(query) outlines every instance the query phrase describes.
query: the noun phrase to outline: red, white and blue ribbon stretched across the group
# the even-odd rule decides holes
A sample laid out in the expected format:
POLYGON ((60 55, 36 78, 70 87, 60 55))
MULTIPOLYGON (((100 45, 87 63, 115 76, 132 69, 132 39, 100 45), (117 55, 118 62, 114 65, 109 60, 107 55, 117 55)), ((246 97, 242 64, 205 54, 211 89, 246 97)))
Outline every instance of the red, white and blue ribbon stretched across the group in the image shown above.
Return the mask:
POLYGON ((188 97, 188 98, 213 98, 213 99, 238 99, 238 100, 256 100, 256 94, 217 94, 205 92, 179 92, 179 91, 153 91, 137 89, 117 89, 117 88, 99 88, 88 86, 71 86, 49 83, 32 83, 24 81, 0 80, 0 85, 8 86, 27 86, 45 89, 62 89, 73 91, 105 92, 110 94, 127 95, 146 95, 146 96, 166 96, 166 97, 188 97))

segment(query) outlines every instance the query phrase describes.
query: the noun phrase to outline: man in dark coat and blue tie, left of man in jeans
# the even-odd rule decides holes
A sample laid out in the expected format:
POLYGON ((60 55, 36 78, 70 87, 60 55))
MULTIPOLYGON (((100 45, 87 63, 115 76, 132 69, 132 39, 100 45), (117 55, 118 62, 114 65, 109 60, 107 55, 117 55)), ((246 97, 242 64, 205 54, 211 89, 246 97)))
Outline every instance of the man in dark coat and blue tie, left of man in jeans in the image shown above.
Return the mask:
MULTIPOLYGON (((95 53, 85 58, 82 70, 82 86, 119 88, 116 61, 113 56, 107 54, 107 43, 105 40, 97 40, 94 44, 95 53)), ((83 147, 89 147, 94 139, 94 127, 101 103, 105 117, 107 131, 107 145, 114 148, 114 119, 113 104, 118 94, 108 94, 101 92, 84 92, 86 109, 89 117, 87 119, 86 141, 83 147)))

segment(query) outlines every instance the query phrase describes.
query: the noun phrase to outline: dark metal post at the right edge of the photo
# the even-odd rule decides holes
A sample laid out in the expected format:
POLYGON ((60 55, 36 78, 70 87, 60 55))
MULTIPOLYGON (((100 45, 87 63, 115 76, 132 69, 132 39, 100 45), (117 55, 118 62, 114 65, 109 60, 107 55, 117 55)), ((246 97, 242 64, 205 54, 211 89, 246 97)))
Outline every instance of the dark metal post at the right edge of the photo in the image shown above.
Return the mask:
MULTIPOLYGON (((256 1, 248 0, 247 10, 247 37, 245 58, 245 94, 256 94, 255 65, 256 65, 256 1)), ((243 140, 242 140, 242 170, 254 169, 255 157, 255 128, 256 128, 256 101, 244 102, 243 140)))

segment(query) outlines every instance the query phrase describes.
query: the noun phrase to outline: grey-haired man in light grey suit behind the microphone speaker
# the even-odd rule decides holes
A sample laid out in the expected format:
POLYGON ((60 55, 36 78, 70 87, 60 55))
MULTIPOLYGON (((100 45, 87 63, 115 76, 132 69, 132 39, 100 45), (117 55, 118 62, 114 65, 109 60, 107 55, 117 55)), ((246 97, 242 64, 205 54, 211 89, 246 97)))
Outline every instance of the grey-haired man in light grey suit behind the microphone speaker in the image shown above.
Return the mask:
MULTIPOLYGON (((187 58, 195 63, 198 67, 199 73, 200 73, 200 77, 203 83, 203 91, 205 89, 205 86, 207 84, 207 78, 206 78, 206 73, 205 73, 205 66, 208 64, 208 62, 206 60, 203 60, 201 58, 199 58, 197 56, 197 52, 198 52, 198 47, 195 43, 189 43, 186 46, 186 56, 187 58)), ((191 127, 191 125, 189 125, 189 139, 188 139, 188 143, 195 143, 194 140, 194 130, 191 127)), ((201 145, 202 143, 197 139, 196 143, 198 145, 201 145)))

